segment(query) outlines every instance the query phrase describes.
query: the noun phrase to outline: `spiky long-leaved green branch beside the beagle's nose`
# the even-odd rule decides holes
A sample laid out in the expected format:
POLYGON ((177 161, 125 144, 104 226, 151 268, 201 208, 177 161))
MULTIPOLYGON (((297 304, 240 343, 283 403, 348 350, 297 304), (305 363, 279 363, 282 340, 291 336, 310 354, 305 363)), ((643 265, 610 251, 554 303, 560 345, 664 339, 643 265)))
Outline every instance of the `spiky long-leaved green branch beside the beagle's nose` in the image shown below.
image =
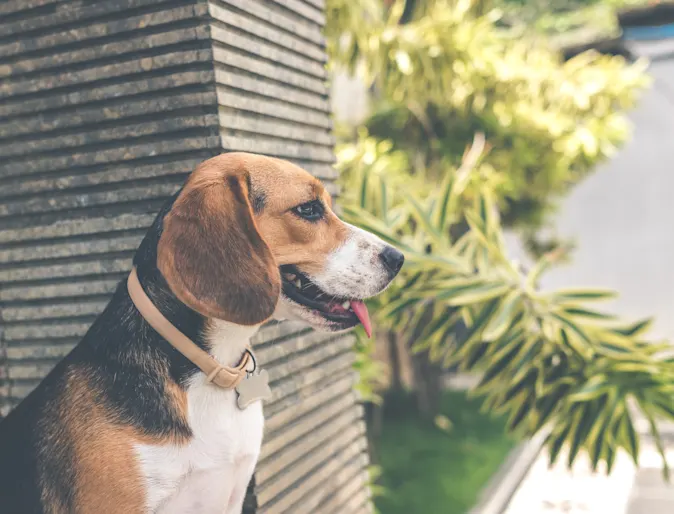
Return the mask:
POLYGON ((478 136, 462 167, 417 194, 385 144, 364 138, 340 149, 345 217, 406 254, 399 280, 372 301, 376 326, 420 333, 416 351, 481 372, 474 393, 507 416, 508 430, 552 428, 552 461, 565 444, 569 465, 581 449, 595 468, 610 470, 618 449, 636 461, 632 403, 662 449, 656 420, 674 417, 671 347, 645 339, 648 321, 625 324, 593 306, 612 292, 539 291, 555 255, 526 274, 509 260, 493 191, 476 173, 483 152, 478 136))

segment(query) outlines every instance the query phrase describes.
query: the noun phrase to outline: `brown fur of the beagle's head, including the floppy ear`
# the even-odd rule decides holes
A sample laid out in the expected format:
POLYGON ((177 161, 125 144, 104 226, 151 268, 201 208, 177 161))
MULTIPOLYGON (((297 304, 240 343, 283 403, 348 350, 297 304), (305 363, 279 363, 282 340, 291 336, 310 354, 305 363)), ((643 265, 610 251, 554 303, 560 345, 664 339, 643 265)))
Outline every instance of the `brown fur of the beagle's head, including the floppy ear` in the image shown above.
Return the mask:
POLYGON ((173 292, 197 312, 240 325, 269 318, 281 288, 278 267, 316 273, 346 237, 319 180, 279 159, 228 153, 202 163, 164 221, 158 267, 173 292), (250 185, 250 187, 249 187, 250 185), (263 208, 254 213, 251 197, 263 208), (291 212, 321 199, 325 217, 291 212))

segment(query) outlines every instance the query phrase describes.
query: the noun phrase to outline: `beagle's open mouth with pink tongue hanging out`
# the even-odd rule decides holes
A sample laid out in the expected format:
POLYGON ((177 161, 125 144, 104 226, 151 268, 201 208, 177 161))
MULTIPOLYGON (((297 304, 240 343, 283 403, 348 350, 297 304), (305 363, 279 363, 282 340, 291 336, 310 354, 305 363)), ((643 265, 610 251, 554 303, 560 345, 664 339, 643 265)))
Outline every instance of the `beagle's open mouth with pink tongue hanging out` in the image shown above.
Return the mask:
POLYGON ((362 300, 326 293, 292 265, 281 266, 281 277, 283 294, 295 303, 346 327, 361 323, 367 336, 372 334, 370 315, 362 300))

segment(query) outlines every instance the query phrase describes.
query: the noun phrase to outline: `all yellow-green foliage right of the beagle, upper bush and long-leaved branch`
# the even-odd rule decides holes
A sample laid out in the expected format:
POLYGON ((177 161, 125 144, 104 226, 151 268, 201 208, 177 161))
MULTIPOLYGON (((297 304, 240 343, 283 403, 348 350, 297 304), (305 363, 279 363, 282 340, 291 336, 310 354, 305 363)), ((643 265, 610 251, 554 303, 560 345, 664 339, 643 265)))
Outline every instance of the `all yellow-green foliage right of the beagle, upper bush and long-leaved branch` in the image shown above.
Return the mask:
POLYGON ((502 224, 535 234, 625 140, 622 112, 643 68, 593 54, 561 62, 499 28, 485 1, 328 8, 333 65, 373 97, 365 127, 338 148, 344 214, 406 252, 400 279, 372 307, 380 332, 420 356, 420 406, 433 414, 438 367, 428 363, 477 370, 477 394, 508 413, 510 429, 551 427, 553 460, 564 443, 569 463, 581 448, 595 466, 610 468, 619 448, 636 458, 631 402, 658 441, 656 417, 674 415, 669 346, 644 340, 645 321, 588 307, 610 292, 538 291, 563 249, 537 243, 545 253, 524 273, 507 257, 502 224))

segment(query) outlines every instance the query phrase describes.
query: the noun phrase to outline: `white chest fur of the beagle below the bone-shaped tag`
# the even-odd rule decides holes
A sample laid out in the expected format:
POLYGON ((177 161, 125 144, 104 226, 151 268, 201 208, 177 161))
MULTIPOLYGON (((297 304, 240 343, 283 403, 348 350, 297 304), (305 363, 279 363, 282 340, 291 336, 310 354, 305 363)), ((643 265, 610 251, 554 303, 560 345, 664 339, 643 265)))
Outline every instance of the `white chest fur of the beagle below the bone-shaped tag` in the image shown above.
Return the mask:
MULTIPOLYGON (((201 473, 201 487, 222 490, 230 486, 230 476, 238 473, 238 463, 257 461, 262 444, 264 418, 262 402, 244 410, 236 405, 236 392, 222 390, 195 377, 187 390, 188 419, 193 437, 184 446, 137 446, 141 473, 145 478, 149 512, 189 487, 186 477, 201 473), (234 473, 232 473, 232 471, 234 473)), ((243 470, 241 470, 243 471, 243 470)), ((195 495, 202 494, 194 491, 195 495)))

